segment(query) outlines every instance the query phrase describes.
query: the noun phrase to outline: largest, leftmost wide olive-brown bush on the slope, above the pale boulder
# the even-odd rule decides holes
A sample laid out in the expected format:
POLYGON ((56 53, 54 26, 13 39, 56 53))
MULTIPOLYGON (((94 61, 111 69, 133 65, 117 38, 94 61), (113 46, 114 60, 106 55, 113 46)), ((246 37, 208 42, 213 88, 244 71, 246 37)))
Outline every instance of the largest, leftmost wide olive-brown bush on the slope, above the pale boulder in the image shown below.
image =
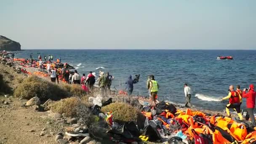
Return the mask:
POLYGON ((21 99, 31 99, 37 96, 41 101, 46 101, 48 99, 59 100, 66 98, 69 94, 58 85, 37 76, 31 76, 20 83, 14 91, 14 96, 21 99))

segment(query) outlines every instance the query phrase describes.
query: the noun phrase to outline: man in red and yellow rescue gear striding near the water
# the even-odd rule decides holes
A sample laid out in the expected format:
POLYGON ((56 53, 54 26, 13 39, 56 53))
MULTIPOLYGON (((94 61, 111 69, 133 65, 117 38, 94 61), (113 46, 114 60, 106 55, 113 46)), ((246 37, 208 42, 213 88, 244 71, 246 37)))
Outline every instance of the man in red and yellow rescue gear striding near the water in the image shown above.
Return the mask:
POLYGON ((222 100, 229 99, 229 104, 226 106, 226 112, 229 117, 231 117, 229 113, 229 109, 234 109, 237 112, 237 115, 239 116, 240 120, 243 120, 243 116, 241 114, 240 109, 240 95, 236 91, 234 91, 234 86, 229 86, 229 95, 222 98, 222 100))

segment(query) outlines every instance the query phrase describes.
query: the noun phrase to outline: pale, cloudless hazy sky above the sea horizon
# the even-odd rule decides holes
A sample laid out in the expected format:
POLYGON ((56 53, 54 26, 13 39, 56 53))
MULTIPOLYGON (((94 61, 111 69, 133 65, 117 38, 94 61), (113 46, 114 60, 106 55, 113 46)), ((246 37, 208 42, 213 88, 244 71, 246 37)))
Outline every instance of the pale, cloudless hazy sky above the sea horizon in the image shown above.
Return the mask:
POLYGON ((3 0, 22 48, 256 49, 256 0, 3 0))

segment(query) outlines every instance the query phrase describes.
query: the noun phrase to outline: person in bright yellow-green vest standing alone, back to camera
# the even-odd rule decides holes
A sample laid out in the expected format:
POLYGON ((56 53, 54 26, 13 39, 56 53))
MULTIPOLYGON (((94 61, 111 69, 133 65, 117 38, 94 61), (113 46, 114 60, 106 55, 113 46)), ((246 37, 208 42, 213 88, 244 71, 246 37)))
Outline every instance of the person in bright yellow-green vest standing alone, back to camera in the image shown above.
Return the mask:
POLYGON ((152 101, 152 106, 155 106, 156 102, 156 96, 157 96, 157 91, 159 88, 159 85, 157 81, 155 81, 154 75, 150 75, 151 80, 149 81, 149 90, 150 90, 150 100, 152 101))

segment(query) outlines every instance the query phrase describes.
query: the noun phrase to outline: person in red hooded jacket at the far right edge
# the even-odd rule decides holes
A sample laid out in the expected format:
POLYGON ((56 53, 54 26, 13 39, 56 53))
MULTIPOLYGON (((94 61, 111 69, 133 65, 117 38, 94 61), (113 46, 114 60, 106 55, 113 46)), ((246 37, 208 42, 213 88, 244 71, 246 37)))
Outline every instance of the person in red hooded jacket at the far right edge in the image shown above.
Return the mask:
POLYGON ((246 98, 246 107, 247 107, 247 117, 246 120, 248 120, 248 117, 251 119, 251 123, 253 124, 253 127, 256 126, 255 123, 255 117, 253 115, 254 107, 255 107, 255 97, 256 92, 254 91, 254 85, 251 84, 248 89, 248 93, 246 93, 247 89, 243 89, 243 98, 246 98))

